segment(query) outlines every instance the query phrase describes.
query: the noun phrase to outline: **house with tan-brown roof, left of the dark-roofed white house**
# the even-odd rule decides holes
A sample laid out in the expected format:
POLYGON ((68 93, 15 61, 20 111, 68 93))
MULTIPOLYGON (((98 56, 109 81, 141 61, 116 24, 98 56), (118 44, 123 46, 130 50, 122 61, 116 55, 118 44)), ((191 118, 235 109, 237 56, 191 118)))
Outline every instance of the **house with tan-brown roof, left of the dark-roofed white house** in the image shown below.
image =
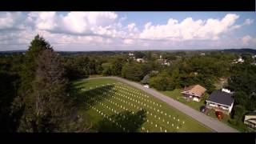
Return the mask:
POLYGON ((200 85, 193 85, 185 87, 182 94, 185 98, 191 98, 193 101, 200 102, 202 94, 206 92, 206 89, 200 85))

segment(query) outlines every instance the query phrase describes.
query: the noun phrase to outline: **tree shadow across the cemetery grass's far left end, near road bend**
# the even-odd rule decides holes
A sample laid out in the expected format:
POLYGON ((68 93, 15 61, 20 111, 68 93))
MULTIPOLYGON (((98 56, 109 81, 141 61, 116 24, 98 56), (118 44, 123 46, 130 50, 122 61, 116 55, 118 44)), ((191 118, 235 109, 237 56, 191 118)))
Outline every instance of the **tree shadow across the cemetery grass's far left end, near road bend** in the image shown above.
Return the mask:
POLYGON ((105 85, 86 90, 86 88, 76 85, 72 86, 70 89, 70 96, 74 98, 74 102, 77 106, 87 110, 90 108, 89 105, 94 106, 97 103, 96 101, 102 102, 105 100, 104 98, 111 98, 114 95, 110 93, 113 87, 114 85, 105 85))

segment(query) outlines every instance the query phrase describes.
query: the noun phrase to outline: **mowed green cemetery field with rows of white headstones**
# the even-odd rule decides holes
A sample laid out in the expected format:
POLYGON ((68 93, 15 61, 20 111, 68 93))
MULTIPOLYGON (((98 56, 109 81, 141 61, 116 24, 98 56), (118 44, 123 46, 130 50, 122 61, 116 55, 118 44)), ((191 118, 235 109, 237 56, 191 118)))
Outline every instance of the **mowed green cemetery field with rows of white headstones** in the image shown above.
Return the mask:
POLYGON ((211 132, 186 114, 113 79, 74 82, 81 110, 102 132, 211 132))

